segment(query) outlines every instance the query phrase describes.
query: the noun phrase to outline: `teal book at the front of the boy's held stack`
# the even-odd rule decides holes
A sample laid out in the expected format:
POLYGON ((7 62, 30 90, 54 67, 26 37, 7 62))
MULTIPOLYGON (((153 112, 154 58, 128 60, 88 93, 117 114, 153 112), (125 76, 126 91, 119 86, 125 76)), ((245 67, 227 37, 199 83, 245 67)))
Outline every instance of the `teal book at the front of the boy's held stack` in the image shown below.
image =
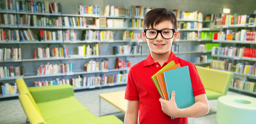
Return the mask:
POLYGON ((175 91, 178 108, 186 108, 195 103, 188 66, 165 71, 163 77, 170 97, 172 91, 175 91))

